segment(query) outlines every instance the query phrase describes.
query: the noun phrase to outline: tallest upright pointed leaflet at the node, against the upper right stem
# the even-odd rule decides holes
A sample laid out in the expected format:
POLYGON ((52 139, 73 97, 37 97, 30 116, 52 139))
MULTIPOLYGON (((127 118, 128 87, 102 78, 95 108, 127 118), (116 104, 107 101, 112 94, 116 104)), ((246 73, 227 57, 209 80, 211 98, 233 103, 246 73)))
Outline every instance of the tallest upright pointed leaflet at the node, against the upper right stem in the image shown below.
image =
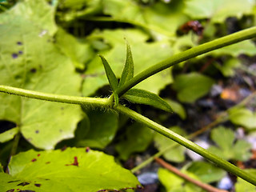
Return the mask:
POLYGON ((134 77, 134 60, 131 54, 130 45, 126 42, 126 62, 122 70, 119 87, 134 77))

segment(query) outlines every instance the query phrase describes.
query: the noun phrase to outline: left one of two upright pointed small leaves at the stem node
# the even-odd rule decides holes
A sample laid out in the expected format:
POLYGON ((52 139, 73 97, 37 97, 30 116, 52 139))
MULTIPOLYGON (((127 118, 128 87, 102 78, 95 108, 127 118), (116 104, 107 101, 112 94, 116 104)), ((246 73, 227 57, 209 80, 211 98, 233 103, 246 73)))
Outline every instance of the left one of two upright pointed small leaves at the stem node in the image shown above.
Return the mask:
POLYGON ((110 64, 106 61, 102 55, 98 55, 102 59, 103 66, 106 71, 106 77, 110 82, 110 88, 114 92, 118 89, 118 78, 115 76, 113 70, 110 67, 110 64))

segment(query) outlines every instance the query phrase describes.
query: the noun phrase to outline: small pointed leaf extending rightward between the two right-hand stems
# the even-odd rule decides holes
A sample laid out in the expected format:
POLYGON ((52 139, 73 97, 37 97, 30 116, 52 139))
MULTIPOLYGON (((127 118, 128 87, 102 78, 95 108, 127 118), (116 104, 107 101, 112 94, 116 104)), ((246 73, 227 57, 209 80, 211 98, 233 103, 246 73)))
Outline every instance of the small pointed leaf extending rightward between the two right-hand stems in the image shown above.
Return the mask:
POLYGON ((167 102, 165 102, 157 94, 153 94, 147 90, 131 89, 128 90, 122 97, 126 98, 126 100, 129 102, 154 106, 158 109, 166 110, 167 112, 173 112, 172 108, 167 102))

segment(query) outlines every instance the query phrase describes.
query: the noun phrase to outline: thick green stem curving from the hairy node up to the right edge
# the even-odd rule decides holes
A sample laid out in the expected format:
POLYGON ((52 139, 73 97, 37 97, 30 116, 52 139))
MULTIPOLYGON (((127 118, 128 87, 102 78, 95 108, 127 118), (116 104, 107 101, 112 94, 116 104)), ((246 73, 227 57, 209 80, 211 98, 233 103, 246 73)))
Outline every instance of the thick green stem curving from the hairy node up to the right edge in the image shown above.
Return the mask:
POLYGON ((231 44, 242 42, 243 40, 256 37, 256 27, 251 27, 246 30, 238 31, 234 34, 226 35, 225 37, 215 39, 211 42, 206 42, 202 45, 195 46, 190 50, 185 50, 182 53, 174 54, 170 58, 162 62, 158 62, 154 66, 149 67, 147 70, 143 70, 140 74, 134 76, 134 78, 130 79, 130 81, 126 82, 122 87, 120 87, 116 94, 121 96, 126 93, 127 90, 130 90, 133 86, 136 86, 139 82, 142 82, 146 78, 149 78, 153 74, 157 74, 158 72, 165 70, 170 66, 174 66, 179 62, 184 62, 190 58, 194 58, 200 54, 206 54, 212 50, 217 50, 222 48, 223 46, 230 46, 231 44))

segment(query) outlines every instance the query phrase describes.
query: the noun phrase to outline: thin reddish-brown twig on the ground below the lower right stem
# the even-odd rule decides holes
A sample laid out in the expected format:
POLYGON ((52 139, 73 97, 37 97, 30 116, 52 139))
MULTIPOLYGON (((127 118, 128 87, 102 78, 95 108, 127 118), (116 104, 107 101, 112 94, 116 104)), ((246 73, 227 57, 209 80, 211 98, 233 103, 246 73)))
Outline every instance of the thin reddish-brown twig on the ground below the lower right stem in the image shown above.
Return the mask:
POLYGON ((158 162, 161 166, 165 167, 167 170, 170 170, 174 174, 178 175, 179 177, 185 179, 188 182, 194 183, 194 185, 201 187, 203 190, 209 191, 209 192, 228 192, 227 190, 220 190, 214 186, 210 186, 206 183, 200 182, 194 178, 190 178, 188 175, 183 174, 180 170, 178 170, 176 167, 171 166, 169 163, 165 162, 161 158, 154 158, 156 162, 158 162))

